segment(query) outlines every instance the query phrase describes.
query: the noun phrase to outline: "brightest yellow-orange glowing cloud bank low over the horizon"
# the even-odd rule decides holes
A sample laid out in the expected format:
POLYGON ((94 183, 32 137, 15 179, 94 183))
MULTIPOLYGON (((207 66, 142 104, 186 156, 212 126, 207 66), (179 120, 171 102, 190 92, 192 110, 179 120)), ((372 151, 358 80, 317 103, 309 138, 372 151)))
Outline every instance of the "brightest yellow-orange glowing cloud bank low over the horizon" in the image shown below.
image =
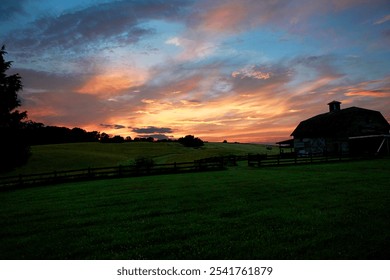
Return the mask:
MULTIPOLYGON (((220 96, 207 102, 167 98, 144 103, 143 111, 137 115, 137 125, 169 127, 175 137, 196 134, 208 141, 228 138, 241 142, 264 142, 271 136, 280 140, 288 137, 295 125, 281 129, 274 124, 277 118, 291 114, 290 108, 279 97, 263 102, 264 93, 260 92, 246 98, 220 96)), ((120 123, 121 120, 112 121, 120 123)))

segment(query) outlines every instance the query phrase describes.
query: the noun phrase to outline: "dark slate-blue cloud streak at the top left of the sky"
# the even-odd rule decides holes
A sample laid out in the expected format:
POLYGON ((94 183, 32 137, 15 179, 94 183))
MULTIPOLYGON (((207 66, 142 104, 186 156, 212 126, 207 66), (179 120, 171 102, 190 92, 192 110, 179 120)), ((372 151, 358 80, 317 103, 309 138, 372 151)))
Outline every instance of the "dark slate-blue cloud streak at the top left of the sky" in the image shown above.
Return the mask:
POLYGON ((19 47, 77 48, 106 40, 110 45, 138 42, 153 34, 142 23, 150 19, 174 19, 180 15, 183 1, 118 1, 104 3, 83 10, 64 13, 58 17, 43 17, 8 38, 19 47))

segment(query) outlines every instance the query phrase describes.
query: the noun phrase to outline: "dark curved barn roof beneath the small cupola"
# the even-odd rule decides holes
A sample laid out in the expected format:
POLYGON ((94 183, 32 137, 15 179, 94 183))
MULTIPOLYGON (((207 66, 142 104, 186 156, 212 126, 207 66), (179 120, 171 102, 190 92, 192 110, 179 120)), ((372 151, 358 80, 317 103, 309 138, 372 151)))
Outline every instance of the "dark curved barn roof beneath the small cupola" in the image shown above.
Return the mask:
POLYGON ((378 111, 350 107, 302 121, 292 132, 295 138, 352 137, 388 134, 389 123, 378 111))

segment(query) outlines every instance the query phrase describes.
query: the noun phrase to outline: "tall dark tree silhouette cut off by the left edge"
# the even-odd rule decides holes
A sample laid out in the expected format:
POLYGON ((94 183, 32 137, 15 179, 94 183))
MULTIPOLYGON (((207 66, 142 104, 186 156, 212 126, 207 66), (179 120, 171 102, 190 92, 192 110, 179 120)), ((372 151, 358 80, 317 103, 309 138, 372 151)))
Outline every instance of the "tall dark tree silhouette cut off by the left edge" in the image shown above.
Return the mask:
POLYGON ((0 50, 0 171, 24 164, 30 155, 30 146, 24 135, 27 112, 16 110, 21 105, 18 92, 23 85, 19 74, 7 75, 12 61, 5 61, 7 52, 0 50))

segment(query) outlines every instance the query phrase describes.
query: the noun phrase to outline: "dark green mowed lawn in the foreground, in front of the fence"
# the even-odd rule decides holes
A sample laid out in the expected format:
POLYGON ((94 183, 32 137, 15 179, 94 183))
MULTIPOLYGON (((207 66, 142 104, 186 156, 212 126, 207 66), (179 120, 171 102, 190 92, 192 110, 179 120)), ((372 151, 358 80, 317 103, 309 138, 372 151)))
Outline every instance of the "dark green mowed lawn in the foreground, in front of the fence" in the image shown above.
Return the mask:
POLYGON ((1 259, 389 259, 390 160, 1 192, 1 259))

